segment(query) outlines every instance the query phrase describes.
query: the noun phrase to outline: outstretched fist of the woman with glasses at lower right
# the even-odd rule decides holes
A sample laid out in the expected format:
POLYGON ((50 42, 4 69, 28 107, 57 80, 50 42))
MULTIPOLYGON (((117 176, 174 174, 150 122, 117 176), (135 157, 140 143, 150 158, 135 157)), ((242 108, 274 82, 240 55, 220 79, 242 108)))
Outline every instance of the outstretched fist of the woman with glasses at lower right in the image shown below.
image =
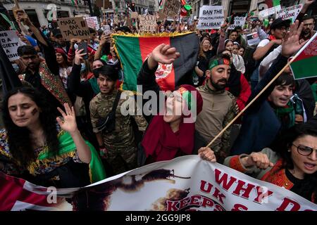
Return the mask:
POLYGON ((259 169, 266 169, 268 167, 273 167, 273 162, 268 160, 268 155, 264 153, 251 153, 246 158, 242 158, 242 165, 244 167, 256 166, 259 169))

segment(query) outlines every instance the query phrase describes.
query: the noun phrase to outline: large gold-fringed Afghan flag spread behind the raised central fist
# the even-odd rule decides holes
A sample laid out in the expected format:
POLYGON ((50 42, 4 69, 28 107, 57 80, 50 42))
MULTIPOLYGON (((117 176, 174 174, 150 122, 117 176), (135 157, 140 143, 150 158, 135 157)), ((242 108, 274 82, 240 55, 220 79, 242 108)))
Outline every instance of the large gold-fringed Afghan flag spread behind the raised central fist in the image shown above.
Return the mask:
POLYGON ((197 63, 199 38, 193 32, 180 34, 113 34, 116 52, 123 67, 123 90, 137 91, 137 75, 149 54, 159 44, 175 47, 180 57, 170 65, 159 63, 156 82, 162 90, 188 84, 197 63))

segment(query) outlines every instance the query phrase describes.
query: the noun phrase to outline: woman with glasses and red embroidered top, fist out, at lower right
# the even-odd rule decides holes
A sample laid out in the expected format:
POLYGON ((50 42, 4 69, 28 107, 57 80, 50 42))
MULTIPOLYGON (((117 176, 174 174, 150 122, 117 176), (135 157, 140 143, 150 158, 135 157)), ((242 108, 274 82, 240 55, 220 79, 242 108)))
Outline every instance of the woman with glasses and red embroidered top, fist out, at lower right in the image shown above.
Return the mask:
POLYGON ((317 123, 296 124, 277 143, 273 149, 228 157, 224 165, 317 203, 317 123))

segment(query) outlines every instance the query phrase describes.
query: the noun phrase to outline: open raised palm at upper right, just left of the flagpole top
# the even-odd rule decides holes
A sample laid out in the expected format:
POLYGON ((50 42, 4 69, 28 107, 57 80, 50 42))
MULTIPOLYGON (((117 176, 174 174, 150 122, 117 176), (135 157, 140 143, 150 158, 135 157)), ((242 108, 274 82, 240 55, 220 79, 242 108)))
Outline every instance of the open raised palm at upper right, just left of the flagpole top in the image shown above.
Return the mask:
POLYGON ((299 20, 296 20, 296 22, 290 26, 290 31, 287 32, 282 44, 282 56, 290 57, 306 44, 307 41, 299 42, 299 36, 302 33, 303 26, 304 23, 299 25, 299 20))

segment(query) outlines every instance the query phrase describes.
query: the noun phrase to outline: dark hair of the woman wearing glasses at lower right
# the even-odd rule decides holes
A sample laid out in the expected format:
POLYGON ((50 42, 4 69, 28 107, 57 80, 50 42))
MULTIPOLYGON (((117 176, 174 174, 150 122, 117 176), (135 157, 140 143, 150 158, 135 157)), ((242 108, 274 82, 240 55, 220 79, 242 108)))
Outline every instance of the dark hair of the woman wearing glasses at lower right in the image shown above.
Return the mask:
MULTIPOLYGON (((290 148, 292 143, 303 136, 317 137, 317 121, 311 120, 304 124, 295 124, 285 133, 281 134, 273 143, 272 149, 280 155, 283 160, 281 169, 294 169, 294 163, 291 158, 290 148)), ((305 174, 304 183, 301 186, 300 193, 307 195, 313 188, 313 203, 317 203, 317 172, 305 174)))

